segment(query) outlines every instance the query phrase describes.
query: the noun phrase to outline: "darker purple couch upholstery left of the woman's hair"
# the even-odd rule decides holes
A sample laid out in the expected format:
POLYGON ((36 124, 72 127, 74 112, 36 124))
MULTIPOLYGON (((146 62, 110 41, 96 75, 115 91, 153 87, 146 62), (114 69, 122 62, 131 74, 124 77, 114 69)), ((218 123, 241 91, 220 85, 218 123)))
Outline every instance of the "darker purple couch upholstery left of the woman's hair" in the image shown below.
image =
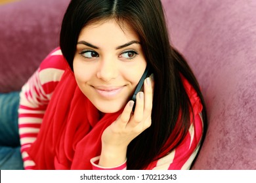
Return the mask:
POLYGON ((58 46, 69 0, 22 0, 0 6, 0 92, 18 91, 58 46))

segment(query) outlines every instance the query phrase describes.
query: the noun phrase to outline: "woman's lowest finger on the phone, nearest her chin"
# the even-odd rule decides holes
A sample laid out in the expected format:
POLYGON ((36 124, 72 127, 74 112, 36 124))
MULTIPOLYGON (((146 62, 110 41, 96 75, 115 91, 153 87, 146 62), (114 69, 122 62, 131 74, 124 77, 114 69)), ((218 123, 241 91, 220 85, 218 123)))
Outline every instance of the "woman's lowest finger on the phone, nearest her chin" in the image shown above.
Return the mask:
POLYGON ((131 111, 133 109, 134 101, 129 101, 125 108, 123 109, 123 112, 117 118, 116 124, 119 125, 119 127, 125 127, 127 123, 129 122, 131 118, 131 111))

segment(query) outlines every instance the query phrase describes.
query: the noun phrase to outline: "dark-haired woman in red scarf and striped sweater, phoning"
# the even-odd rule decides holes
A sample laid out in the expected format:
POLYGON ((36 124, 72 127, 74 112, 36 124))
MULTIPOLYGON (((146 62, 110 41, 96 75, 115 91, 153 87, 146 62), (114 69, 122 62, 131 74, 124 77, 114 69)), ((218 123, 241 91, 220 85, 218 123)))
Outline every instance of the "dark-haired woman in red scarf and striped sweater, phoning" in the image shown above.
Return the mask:
POLYGON ((71 1, 60 48, 20 93, 25 169, 190 169, 206 124, 156 0, 71 1))

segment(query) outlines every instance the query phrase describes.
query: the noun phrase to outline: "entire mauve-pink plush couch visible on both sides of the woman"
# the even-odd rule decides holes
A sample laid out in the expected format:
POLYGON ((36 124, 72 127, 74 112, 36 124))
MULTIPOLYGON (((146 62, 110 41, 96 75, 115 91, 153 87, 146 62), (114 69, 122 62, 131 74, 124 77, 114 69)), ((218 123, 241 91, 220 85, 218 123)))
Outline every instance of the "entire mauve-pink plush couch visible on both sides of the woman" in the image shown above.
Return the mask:
MULTIPOLYGON (((20 90, 58 46, 69 0, 0 6, 0 92, 20 90)), ((192 169, 256 168, 256 1, 162 0, 171 41, 188 59, 209 128, 192 169)))

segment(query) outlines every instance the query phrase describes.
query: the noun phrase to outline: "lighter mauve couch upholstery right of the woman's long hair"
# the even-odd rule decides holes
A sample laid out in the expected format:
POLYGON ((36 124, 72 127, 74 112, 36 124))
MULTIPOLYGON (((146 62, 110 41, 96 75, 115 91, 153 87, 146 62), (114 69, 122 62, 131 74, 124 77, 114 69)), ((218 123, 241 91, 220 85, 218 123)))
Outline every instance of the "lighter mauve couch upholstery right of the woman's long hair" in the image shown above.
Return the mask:
POLYGON ((256 1, 163 0, 198 77, 209 127, 192 169, 256 168, 256 1))

